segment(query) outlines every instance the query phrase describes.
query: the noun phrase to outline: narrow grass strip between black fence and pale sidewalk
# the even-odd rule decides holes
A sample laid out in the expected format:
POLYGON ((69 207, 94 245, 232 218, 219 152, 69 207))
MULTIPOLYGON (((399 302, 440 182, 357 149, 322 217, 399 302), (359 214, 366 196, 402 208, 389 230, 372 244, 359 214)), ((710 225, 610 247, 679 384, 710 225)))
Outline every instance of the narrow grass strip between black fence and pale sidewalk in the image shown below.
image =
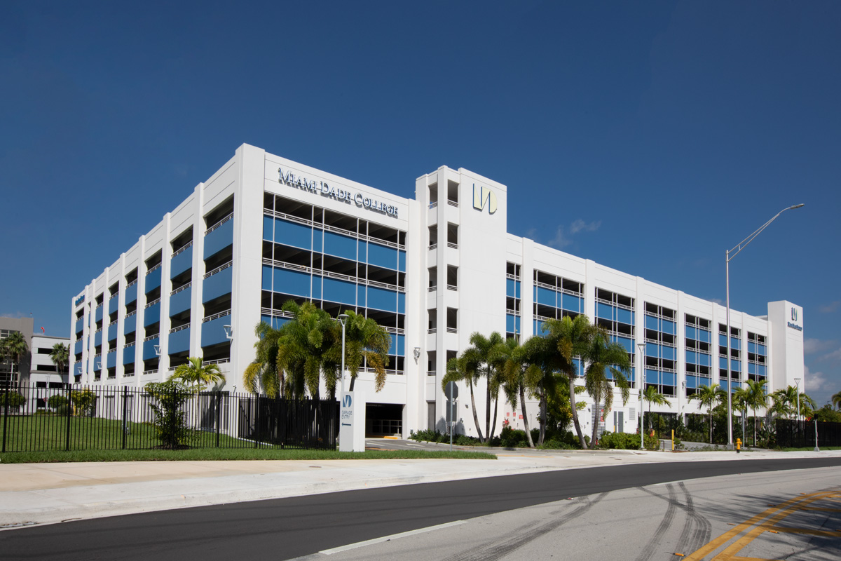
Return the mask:
POLYGON ((190 448, 188 450, 71 450, 46 452, 13 452, 0 456, 0 463, 54 462, 198 462, 224 460, 415 460, 415 459, 479 459, 495 460, 486 452, 458 450, 278 450, 255 448, 190 448))

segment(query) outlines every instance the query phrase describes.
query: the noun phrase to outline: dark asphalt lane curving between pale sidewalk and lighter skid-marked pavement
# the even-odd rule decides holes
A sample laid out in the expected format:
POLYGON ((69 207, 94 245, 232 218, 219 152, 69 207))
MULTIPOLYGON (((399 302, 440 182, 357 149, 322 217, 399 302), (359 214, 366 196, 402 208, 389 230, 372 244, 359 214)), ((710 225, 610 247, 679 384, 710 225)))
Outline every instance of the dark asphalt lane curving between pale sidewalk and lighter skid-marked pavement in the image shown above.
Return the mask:
MULTIPOLYGON (((574 497, 598 498, 611 491, 678 480, 839 465, 841 458, 654 463, 214 505, 0 532, 0 557, 178 561, 298 558, 377 537, 574 497)), ((656 528, 649 532, 656 533, 656 528)))

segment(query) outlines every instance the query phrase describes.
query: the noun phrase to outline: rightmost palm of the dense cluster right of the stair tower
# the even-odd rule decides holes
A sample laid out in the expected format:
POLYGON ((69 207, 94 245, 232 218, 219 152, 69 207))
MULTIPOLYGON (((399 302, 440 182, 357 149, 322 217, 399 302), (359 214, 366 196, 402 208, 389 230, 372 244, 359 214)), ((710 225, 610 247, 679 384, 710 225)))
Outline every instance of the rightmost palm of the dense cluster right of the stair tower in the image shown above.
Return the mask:
MULTIPOLYGON (((584 368, 584 387, 595 401, 595 415, 601 414, 600 401, 604 400, 604 410, 610 411, 613 405, 613 387, 619 388, 622 404, 626 404, 631 397, 631 384, 626 377, 631 372, 631 359, 625 347, 611 342, 605 331, 597 329, 590 338, 589 345, 581 355, 586 364, 584 368), (607 373, 611 373, 608 378, 607 373)), ((596 442, 599 421, 593 423, 593 435, 590 442, 596 442)))

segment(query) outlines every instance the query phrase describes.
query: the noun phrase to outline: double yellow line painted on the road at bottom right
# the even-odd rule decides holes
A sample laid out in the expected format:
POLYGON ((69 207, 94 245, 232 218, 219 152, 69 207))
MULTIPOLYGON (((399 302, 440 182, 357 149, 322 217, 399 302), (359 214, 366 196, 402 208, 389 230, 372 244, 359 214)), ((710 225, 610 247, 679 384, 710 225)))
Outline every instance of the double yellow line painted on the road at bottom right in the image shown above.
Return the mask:
POLYGON ((841 532, 775 526, 777 522, 779 522, 786 516, 793 514, 796 511, 836 511, 835 509, 822 509, 817 507, 807 509, 804 507, 812 504, 816 500, 838 500, 838 498, 838 490, 832 490, 821 491, 818 493, 812 493, 811 495, 803 495, 786 500, 780 505, 776 505, 773 508, 768 509, 767 511, 760 512, 758 515, 750 518, 748 521, 744 521, 738 526, 733 527, 732 530, 725 532, 721 536, 712 540, 711 542, 708 542, 705 546, 701 547, 696 552, 687 555, 685 559, 686 561, 701 561, 701 559, 705 558, 707 555, 709 555, 716 549, 721 548, 722 545, 729 542, 731 539, 733 539, 733 537, 738 536, 739 534, 751 527, 753 528, 750 530, 750 532, 746 533, 742 537, 739 537, 738 540, 731 543, 726 549, 722 551, 722 553, 719 553, 713 559, 715 561, 760 561, 758 558, 736 557, 736 553, 740 552, 745 546, 748 545, 748 543, 753 542, 754 539, 759 537, 759 534, 761 534, 762 532, 801 533, 815 536, 841 537, 841 532), (759 523, 765 518, 768 518, 768 520, 764 521, 764 523, 759 523))

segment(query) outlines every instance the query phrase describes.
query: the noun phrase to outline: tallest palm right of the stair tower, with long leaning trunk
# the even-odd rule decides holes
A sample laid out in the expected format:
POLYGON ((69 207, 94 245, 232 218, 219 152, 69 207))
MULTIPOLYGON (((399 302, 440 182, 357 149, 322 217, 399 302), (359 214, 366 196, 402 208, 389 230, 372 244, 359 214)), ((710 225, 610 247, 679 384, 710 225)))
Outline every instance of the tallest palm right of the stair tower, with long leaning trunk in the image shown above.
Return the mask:
POLYGON ((547 340, 553 347, 544 369, 549 368, 550 372, 562 373, 566 378, 569 384, 569 405, 573 413, 575 432, 578 434, 581 448, 586 450, 587 442, 584 441, 584 434, 581 432, 578 407, 575 404, 575 378, 578 372, 574 358, 583 356, 587 352, 590 341, 598 332, 598 328, 590 324, 590 319, 582 314, 576 315, 574 319, 567 315, 560 320, 546 320, 543 323, 543 330, 547 331, 547 340))

